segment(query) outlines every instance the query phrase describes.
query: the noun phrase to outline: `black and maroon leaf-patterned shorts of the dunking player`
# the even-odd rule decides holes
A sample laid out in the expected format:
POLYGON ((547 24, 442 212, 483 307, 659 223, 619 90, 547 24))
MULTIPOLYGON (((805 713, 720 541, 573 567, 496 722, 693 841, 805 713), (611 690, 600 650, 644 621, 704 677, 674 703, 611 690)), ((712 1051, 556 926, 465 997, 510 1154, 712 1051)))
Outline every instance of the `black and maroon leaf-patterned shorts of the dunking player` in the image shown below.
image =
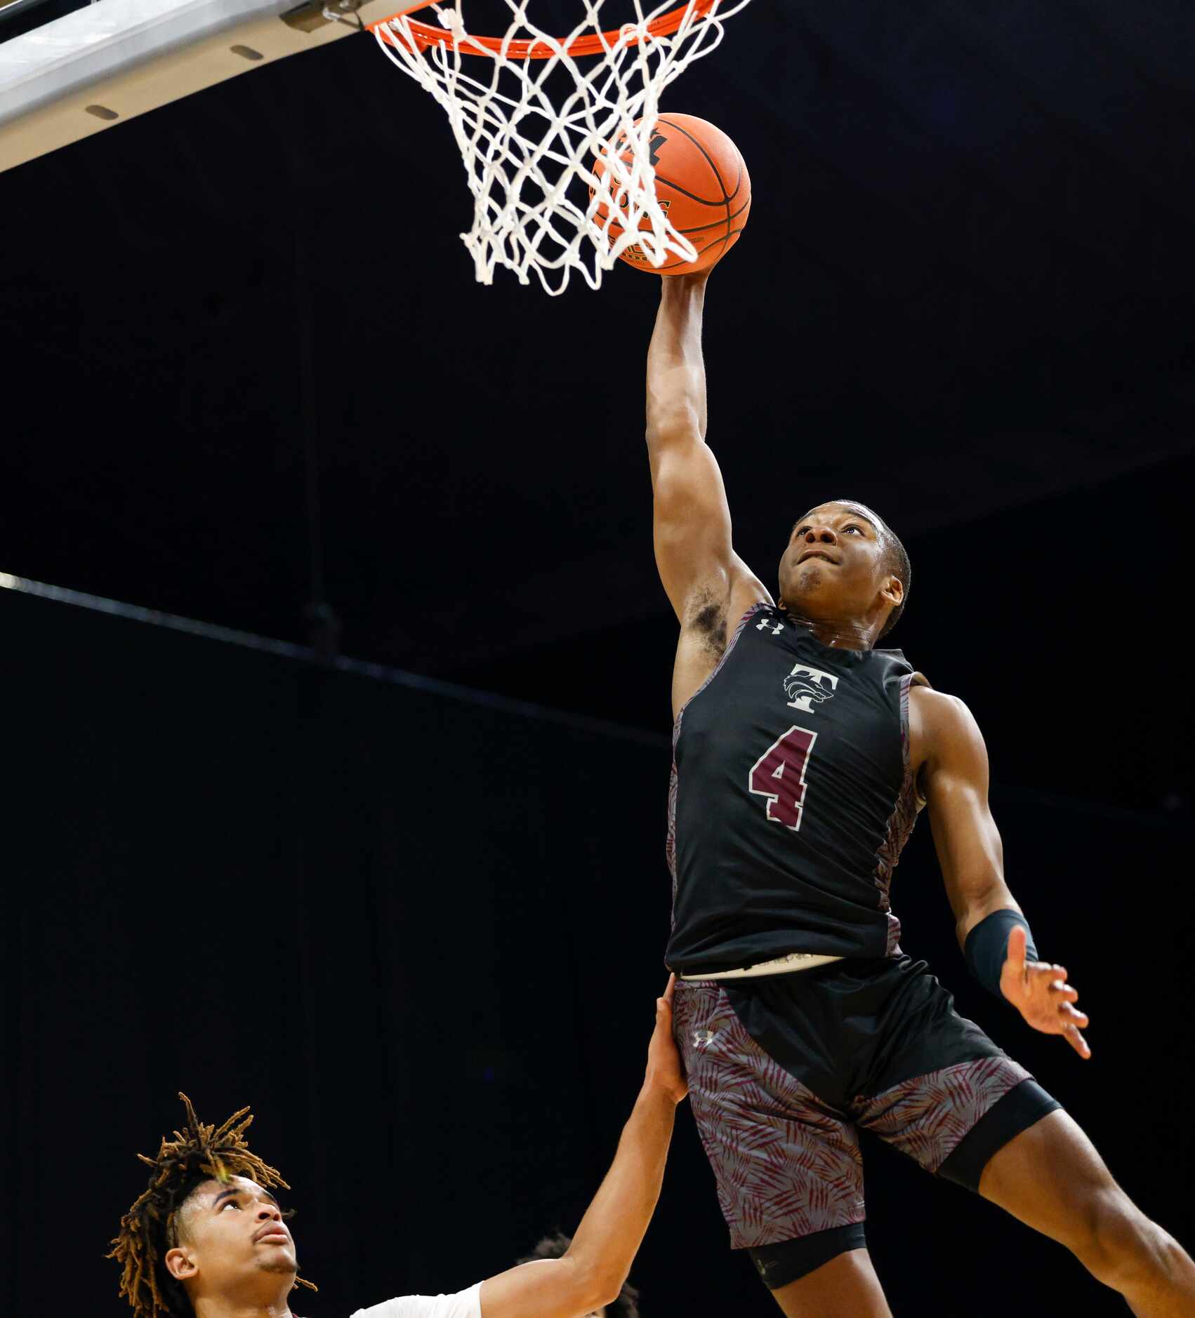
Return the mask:
POLYGON ((859 1130, 968 1189, 1060 1104, 910 957, 677 981, 677 1045, 736 1249, 769 1285, 863 1246, 859 1130), (769 1247, 803 1240, 768 1276, 769 1247), (802 1260, 807 1267, 803 1267, 802 1260))

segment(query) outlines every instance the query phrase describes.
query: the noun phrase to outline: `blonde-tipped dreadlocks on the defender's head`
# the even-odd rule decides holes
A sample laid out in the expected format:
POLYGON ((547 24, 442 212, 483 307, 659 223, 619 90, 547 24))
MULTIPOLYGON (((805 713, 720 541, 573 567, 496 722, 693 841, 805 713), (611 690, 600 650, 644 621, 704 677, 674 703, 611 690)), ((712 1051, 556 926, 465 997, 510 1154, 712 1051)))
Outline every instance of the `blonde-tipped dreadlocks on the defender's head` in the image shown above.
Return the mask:
MULTIPOLYGON (((186 1107, 186 1124, 173 1140, 162 1139, 157 1157, 137 1155, 153 1174, 145 1193, 120 1219, 120 1235, 108 1255, 124 1268, 120 1294, 133 1306, 133 1318, 186 1318, 190 1310, 186 1292, 166 1271, 164 1259, 175 1242, 175 1214, 200 1180, 227 1184, 233 1176, 247 1176, 265 1190, 290 1189, 272 1166, 249 1152, 244 1133, 253 1115, 248 1107, 233 1112, 218 1130, 199 1122, 186 1094, 178 1097, 186 1107)), ((315 1289, 302 1277, 295 1281, 315 1289)))

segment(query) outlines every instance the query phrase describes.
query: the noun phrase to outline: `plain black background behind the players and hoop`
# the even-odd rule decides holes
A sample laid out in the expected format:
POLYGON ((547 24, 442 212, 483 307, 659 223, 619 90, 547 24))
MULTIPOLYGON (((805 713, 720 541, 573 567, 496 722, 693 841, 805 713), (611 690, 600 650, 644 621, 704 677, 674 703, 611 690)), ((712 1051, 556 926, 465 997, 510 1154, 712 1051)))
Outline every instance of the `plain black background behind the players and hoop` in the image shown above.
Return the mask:
MULTIPOLYGON (((740 552, 770 579, 843 494, 905 538, 894 642, 985 730, 1093 1060, 973 990, 925 829, 906 950, 1190 1247, 1190 9, 760 0, 665 105, 754 182, 706 332, 740 552)), ((13 170, 0 217, 0 569, 389 673, 0 594, 7 1310, 121 1311, 178 1089, 259 1112, 302 1313, 466 1285, 575 1224, 662 979, 654 285, 477 287, 443 115, 364 37, 13 170)), ((868 1159, 897 1314, 1124 1311, 868 1159)), ((772 1311, 687 1115, 634 1277, 772 1311)))

